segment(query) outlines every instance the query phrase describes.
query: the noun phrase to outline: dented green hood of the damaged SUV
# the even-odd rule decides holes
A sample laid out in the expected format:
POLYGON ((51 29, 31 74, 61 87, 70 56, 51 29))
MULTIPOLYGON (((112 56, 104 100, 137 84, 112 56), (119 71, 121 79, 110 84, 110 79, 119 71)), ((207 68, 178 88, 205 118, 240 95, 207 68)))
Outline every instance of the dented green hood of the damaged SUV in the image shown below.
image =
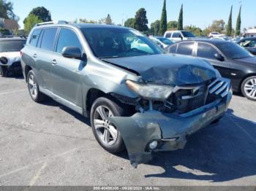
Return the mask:
POLYGON ((207 61, 181 55, 143 55, 104 58, 103 61, 136 71, 146 82, 165 85, 192 85, 216 78, 217 71, 207 61))

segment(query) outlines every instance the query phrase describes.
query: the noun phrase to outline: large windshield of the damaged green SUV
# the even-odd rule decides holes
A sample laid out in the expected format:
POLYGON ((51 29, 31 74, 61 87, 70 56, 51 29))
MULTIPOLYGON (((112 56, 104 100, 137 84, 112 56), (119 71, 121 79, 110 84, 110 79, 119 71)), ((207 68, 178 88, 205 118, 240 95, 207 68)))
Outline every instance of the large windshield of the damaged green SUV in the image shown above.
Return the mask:
POLYGON ((98 58, 121 58, 162 54, 162 50, 140 32, 128 28, 82 28, 98 58))

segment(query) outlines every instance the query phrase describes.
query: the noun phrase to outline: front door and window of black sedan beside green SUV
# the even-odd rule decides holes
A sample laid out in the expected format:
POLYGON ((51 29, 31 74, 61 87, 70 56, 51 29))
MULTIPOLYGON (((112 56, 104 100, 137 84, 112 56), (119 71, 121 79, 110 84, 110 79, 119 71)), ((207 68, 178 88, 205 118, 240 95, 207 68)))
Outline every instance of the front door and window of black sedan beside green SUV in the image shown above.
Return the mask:
POLYGON ((196 56, 209 61, 219 71, 222 77, 230 78, 230 63, 227 61, 218 61, 214 56, 215 54, 221 54, 221 52, 211 44, 204 42, 197 43, 196 56))

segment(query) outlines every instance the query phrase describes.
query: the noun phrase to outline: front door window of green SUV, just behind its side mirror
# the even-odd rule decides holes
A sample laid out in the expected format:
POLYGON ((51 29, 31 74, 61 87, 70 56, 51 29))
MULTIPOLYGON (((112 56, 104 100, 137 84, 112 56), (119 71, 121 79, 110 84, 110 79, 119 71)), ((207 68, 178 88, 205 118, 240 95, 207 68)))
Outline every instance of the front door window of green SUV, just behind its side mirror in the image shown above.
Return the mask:
POLYGON ((78 36, 74 31, 67 28, 61 29, 57 45, 57 52, 61 53, 64 47, 79 47, 82 51, 82 46, 79 42, 78 36))

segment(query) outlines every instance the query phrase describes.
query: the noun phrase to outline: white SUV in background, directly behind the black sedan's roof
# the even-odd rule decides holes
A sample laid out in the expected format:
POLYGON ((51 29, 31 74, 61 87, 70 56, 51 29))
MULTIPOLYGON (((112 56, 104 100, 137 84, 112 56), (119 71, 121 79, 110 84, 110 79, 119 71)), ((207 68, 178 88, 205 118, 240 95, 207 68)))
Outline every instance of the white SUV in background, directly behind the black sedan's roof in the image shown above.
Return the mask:
POLYGON ((164 37, 174 42, 178 42, 181 40, 193 39, 195 38, 195 35, 189 31, 166 31, 164 37))

